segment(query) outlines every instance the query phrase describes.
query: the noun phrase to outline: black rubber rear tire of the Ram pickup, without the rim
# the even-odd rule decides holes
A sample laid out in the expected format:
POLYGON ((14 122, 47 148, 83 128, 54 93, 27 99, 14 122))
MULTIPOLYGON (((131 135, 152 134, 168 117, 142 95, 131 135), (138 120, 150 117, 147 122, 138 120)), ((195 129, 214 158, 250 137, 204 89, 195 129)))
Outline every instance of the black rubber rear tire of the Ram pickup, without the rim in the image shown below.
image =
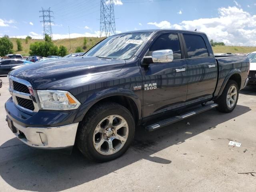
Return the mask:
POLYGON ((236 107, 237 101, 238 101, 238 96, 239 96, 239 88, 238 88, 238 84, 236 81, 234 80, 228 80, 221 96, 215 100, 214 102, 218 104, 217 110, 220 112, 224 112, 224 113, 230 113, 234 110, 234 108, 236 107), (232 86, 236 87, 236 100, 234 102, 234 105, 232 107, 228 106, 228 102, 227 102, 227 95, 228 95, 228 91, 230 90, 230 88, 232 86))

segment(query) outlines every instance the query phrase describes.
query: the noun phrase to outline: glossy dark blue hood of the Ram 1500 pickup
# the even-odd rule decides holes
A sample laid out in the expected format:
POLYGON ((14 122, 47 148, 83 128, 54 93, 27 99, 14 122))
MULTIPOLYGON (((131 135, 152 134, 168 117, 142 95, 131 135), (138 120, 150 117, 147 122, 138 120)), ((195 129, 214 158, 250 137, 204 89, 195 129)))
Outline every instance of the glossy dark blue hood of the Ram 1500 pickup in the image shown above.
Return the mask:
POLYGON ((9 75, 24 79, 30 82, 34 89, 40 89, 79 76, 116 72, 121 70, 125 63, 125 60, 88 56, 63 58, 28 64, 12 70, 9 75))

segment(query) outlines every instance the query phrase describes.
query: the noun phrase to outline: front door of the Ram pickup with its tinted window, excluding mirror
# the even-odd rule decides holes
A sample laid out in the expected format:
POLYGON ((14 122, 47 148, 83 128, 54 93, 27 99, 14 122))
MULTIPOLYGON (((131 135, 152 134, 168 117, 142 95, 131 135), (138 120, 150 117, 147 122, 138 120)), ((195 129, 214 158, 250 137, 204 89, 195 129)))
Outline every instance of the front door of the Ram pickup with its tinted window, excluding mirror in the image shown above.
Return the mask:
POLYGON ((151 116, 184 106, 188 90, 187 64, 177 33, 162 33, 150 46, 146 56, 156 50, 172 50, 174 60, 142 66, 143 116, 151 116))

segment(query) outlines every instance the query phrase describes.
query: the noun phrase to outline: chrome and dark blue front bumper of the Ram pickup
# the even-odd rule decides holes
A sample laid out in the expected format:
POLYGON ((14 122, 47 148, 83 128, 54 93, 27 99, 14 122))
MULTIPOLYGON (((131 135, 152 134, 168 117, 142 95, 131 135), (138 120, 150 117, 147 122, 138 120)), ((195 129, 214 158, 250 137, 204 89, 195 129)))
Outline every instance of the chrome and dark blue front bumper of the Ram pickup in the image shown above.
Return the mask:
POLYGON ((5 103, 12 131, 25 144, 46 149, 68 148, 74 145, 78 123, 76 110, 38 111, 27 114, 18 109, 12 98, 5 103))

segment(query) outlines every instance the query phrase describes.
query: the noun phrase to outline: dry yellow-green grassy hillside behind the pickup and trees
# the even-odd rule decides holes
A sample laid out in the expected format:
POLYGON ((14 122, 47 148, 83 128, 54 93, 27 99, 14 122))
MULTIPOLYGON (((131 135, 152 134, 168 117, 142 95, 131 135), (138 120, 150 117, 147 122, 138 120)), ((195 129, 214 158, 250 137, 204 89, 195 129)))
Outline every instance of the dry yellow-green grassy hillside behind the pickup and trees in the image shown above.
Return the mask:
MULTIPOLYGON (((94 46, 96 43, 98 43, 100 40, 104 38, 98 38, 98 37, 86 37, 87 40, 87 47, 84 49, 84 51, 87 51, 92 46, 94 46)), ((10 38, 10 40, 13 43, 14 53, 21 54, 22 56, 29 56, 29 45, 32 42, 36 41, 43 41, 43 40, 35 40, 31 39, 28 40, 28 44, 25 43, 25 39, 20 39, 22 42, 22 51, 17 51, 17 44, 16 44, 16 38, 10 38)), ((78 37, 78 38, 72 38, 70 39, 59 39, 54 40, 54 44, 57 46, 63 45, 68 49, 68 52, 74 52, 76 47, 83 45, 84 37, 78 37), (70 49, 71 44, 71 49, 70 49)), ((249 53, 256 51, 256 47, 242 47, 242 46, 214 46, 212 47, 214 53, 249 53)))

